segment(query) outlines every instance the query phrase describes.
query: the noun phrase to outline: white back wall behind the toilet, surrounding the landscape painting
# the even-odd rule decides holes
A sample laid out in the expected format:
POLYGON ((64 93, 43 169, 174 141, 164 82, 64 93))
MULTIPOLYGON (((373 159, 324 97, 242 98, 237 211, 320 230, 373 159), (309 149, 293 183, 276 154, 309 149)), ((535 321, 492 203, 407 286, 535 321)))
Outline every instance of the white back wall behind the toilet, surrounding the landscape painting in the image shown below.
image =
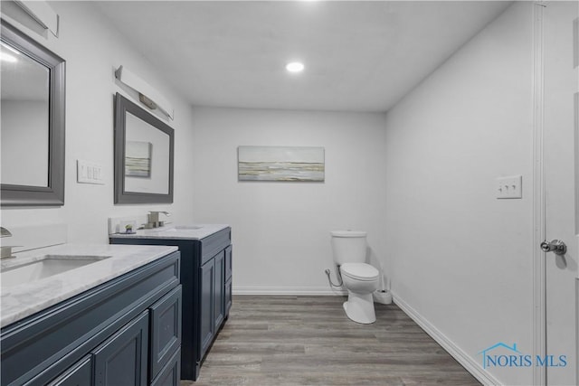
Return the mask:
POLYGON ((234 292, 329 293, 333 230, 384 256, 383 114, 195 108, 194 130, 194 218, 232 225, 234 292), (323 146, 326 181, 238 182, 248 145, 323 146))

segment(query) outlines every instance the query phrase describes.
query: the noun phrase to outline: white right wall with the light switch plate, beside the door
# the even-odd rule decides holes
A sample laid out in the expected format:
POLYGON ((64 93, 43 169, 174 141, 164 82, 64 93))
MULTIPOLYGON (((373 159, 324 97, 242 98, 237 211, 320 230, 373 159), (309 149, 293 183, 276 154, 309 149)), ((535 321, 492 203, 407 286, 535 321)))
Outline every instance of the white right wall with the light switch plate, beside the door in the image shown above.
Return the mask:
MULTIPOLYGON (((386 116, 386 259, 396 301, 480 367, 532 353, 532 5, 498 17, 386 116), (522 200, 497 200, 523 175, 522 200)), ((490 370, 531 384, 532 369, 490 370)))

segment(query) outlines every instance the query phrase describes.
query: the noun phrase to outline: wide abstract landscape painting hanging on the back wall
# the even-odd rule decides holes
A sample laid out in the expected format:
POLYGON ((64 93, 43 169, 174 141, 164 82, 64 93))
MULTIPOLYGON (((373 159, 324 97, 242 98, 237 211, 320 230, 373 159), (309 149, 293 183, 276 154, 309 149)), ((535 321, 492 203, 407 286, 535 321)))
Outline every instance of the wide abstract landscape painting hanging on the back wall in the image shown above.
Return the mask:
POLYGON ((239 181, 324 181, 323 147, 239 146, 239 181))

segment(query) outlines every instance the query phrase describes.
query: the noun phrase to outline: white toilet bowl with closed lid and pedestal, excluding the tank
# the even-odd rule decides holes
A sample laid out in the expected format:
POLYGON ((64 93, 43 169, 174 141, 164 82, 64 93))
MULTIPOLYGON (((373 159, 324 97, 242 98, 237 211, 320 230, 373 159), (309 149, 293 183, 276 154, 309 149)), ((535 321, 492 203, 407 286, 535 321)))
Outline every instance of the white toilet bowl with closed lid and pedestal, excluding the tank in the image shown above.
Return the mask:
POLYGON ((344 302, 347 317, 365 325, 374 323, 372 294, 378 288, 378 269, 365 263, 346 263, 340 266, 340 273, 347 289, 347 301, 344 302))

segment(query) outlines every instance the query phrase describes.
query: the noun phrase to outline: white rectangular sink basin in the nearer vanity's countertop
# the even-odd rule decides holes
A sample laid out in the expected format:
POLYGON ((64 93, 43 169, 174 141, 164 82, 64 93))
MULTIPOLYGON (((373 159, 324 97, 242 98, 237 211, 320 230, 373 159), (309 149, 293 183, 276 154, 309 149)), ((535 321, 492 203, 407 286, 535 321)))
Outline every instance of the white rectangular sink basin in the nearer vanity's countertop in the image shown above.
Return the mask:
POLYGON ((81 268, 96 263, 110 256, 64 256, 46 255, 43 259, 35 260, 19 266, 5 268, 0 272, 2 287, 14 287, 35 280, 49 278, 54 275, 81 268))

